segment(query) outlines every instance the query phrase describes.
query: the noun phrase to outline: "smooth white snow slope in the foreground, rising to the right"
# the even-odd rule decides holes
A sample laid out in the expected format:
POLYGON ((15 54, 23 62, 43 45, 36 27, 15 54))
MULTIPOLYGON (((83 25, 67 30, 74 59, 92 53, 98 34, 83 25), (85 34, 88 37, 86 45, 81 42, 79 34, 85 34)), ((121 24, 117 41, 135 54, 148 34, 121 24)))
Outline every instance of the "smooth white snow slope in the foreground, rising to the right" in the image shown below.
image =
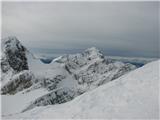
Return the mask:
POLYGON ((148 63, 70 102, 36 107, 4 118, 159 119, 159 64, 160 60, 148 63))

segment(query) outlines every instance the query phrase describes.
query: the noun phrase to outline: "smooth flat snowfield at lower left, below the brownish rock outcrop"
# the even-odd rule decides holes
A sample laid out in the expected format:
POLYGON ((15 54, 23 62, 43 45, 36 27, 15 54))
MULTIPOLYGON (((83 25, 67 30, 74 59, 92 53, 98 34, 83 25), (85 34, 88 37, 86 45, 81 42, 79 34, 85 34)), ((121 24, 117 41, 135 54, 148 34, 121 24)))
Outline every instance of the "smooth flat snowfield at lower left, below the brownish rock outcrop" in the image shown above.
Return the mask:
POLYGON ((41 88, 31 92, 19 92, 16 95, 1 95, 2 115, 20 113, 37 97, 47 94, 48 91, 41 88))

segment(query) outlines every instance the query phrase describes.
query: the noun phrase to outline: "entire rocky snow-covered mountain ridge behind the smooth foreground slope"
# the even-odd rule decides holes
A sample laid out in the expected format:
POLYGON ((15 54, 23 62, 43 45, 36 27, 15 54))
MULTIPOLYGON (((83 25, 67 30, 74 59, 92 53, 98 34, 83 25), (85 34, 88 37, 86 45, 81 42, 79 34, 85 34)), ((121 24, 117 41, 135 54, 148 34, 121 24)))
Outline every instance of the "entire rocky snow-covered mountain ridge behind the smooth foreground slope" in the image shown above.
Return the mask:
POLYGON ((135 68, 132 64, 105 59, 95 47, 44 64, 16 37, 8 37, 2 40, 2 114, 68 102, 135 68))

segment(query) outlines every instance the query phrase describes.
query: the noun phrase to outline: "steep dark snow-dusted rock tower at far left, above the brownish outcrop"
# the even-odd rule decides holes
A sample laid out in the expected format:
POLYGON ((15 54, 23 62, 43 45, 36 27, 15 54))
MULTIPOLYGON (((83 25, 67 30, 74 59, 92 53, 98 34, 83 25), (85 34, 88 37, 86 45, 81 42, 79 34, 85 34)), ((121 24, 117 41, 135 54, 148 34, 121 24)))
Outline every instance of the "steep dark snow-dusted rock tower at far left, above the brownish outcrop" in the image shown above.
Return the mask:
POLYGON ((6 65, 10 66, 16 72, 29 69, 26 48, 20 44, 16 37, 5 39, 2 47, 5 54, 5 58, 2 58, 3 60, 1 62, 3 72, 7 71, 6 65))

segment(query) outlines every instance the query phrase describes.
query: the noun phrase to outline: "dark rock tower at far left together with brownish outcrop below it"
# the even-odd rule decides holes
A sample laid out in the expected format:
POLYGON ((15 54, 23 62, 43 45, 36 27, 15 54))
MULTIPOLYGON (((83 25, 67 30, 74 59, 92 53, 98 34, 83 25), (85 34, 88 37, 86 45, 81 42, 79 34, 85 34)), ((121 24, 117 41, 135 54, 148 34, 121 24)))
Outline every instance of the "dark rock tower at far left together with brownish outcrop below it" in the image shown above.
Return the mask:
POLYGON ((32 85, 34 75, 29 71, 26 55, 27 49, 16 37, 2 39, 1 81, 9 81, 1 88, 2 94, 15 94, 32 85))

